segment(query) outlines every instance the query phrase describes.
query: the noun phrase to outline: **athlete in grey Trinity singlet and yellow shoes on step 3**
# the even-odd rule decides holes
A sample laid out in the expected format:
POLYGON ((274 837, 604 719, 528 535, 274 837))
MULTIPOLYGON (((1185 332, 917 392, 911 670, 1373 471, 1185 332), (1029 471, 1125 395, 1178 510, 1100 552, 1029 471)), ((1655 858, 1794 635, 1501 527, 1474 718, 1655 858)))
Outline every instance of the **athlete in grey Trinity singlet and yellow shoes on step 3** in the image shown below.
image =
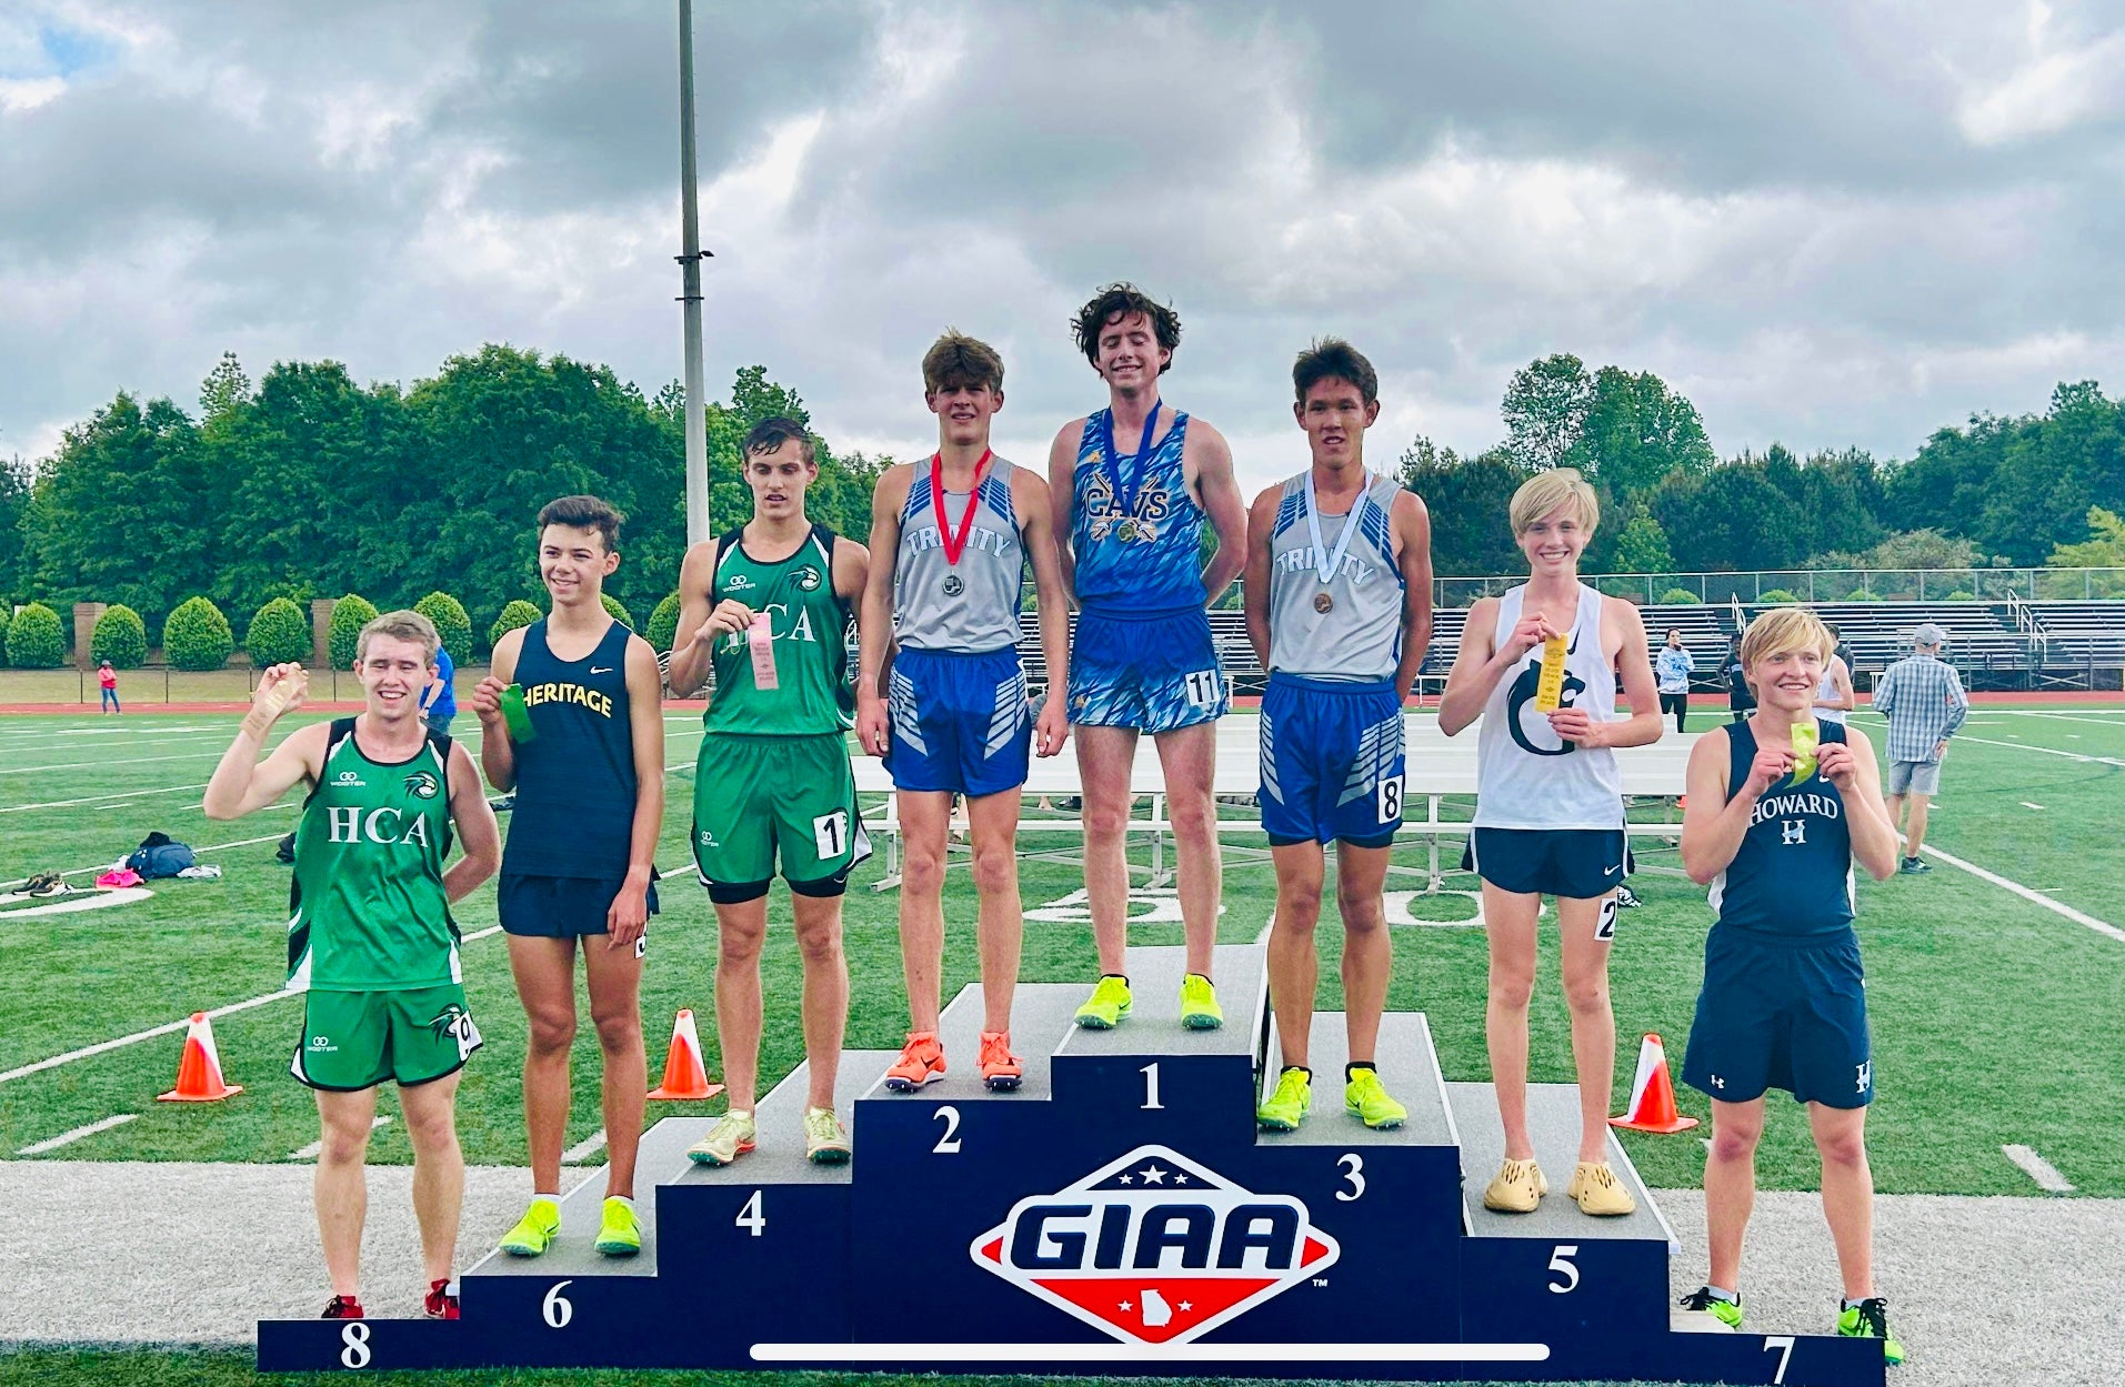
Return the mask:
POLYGON ((1269 1003, 1284 1049, 1256 1121, 1290 1132, 1313 1107, 1313 930, 1322 850, 1334 841, 1349 1024, 1343 1111, 1368 1128, 1398 1128, 1409 1109, 1388 1094, 1375 1062, 1394 971, 1381 888, 1402 824, 1402 699, 1432 635, 1432 523, 1417 493, 1364 467, 1364 431, 1379 418, 1379 376, 1364 355, 1337 338, 1315 342, 1292 367, 1292 387, 1313 465, 1256 497, 1247 516, 1247 637, 1269 669, 1260 718, 1262 828, 1277 864, 1269 1003))

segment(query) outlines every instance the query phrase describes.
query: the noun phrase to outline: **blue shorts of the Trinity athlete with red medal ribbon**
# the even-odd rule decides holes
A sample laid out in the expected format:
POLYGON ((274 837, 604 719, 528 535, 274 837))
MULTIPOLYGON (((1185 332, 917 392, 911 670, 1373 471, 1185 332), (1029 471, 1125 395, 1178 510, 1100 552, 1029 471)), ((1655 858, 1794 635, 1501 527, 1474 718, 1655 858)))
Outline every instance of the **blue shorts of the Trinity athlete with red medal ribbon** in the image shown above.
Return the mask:
POLYGON ((901 648, 886 705, 895 788, 980 799, 1026 784, 1033 709, 1016 646, 980 654, 901 648))

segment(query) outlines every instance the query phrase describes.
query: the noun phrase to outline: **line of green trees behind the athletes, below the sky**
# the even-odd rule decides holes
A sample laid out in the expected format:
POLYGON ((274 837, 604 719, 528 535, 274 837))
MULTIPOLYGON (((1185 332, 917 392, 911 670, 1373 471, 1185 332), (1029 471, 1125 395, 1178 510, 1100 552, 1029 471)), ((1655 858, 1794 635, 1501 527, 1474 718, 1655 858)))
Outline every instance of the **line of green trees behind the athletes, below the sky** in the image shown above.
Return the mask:
MULTIPOLYGON (((737 446, 769 414, 810 423, 759 365, 708 406, 716 533, 750 510, 737 446)), ((1560 465, 1602 497, 1587 571, 2125 561, 2125 401, 2093 380, 2059 384, 2042 414, 1938 429, 1908 461, 1779 444, 1719 459, 1660 376, 1572 355, 1515 372, 1500 418, 1504 440, 1470 457, 1422 435, 1400 455, 1441 576, 1519 571, 1507 499, 1560 465)), ((867 533, 892 459, 820 440, 818 461, 812 514, 867 533)), ((253 384, 225 353, 196 410, 119 393, 51 457, 0 465, 0 599, 123 603, 159 633, 189 597, 244 622, 276 597, 389 607, 440 588, 484 646, 510 601, 542 599, 529 529, 570 493, 629 516, 608 593, 648 622, 686 546, 678 382, 644 397, 606 365, 487 344, 410 389, 359 384, 338 361, 283 361, 253 384)))

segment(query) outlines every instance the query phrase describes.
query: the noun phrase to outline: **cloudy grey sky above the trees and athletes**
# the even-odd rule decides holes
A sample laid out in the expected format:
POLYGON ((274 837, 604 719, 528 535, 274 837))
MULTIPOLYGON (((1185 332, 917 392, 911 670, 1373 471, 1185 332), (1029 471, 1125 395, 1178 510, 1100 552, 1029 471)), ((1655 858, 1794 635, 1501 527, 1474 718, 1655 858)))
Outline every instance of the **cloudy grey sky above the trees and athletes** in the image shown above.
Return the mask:
MULTIPOLYGON (((1662 374, 1721 455, 2125 387, 2116 4, 699 8, 710 391, 765 363, 837 446, 933 446, 956 325, 1039 461, 1103 401, 1067 319, 1109 278, 1179 308, 1167 397, 1250 482, 1303 461, 1315 333, 1379 365, 1381 461, 1496 442, 1553 350, 1662 374)), ((189 408, 223 348, 654 391, 676 108, 674 0, 8 0, 0 457, 117 389, 189 408)))

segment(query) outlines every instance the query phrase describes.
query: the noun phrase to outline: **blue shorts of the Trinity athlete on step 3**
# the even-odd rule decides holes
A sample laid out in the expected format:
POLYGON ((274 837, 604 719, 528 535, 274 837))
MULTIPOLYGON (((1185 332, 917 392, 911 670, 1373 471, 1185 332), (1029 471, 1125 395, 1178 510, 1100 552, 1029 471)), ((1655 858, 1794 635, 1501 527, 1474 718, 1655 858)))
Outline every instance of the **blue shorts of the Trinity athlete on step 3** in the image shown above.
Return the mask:
POLYGON ((1275 847, 1386 847, 1402 826, 1402 705, 1394 682, 1275 671, 1262 695, 1262 831, 1275 847))

